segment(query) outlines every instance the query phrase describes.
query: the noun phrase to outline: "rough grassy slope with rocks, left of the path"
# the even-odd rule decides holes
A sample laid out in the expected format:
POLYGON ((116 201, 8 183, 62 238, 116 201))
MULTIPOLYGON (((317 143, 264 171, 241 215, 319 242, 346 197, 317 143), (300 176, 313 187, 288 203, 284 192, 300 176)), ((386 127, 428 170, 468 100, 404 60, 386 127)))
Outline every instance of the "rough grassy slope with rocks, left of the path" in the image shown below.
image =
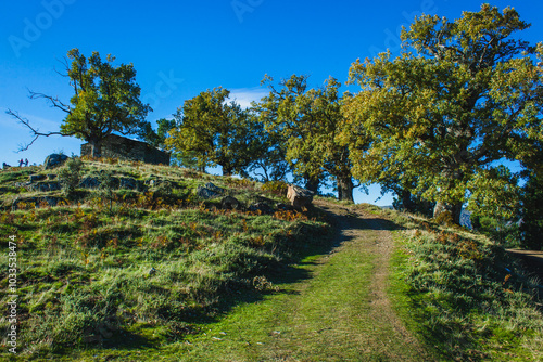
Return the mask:
MULTIPOLYGON (((63 181, 66 167, 0 173, 0 245, 8 256, 9 236, 16 237, 17 351, 26 358, 72 347, 160 346, 198 333, 194 322, 213 321, 232 296, 272 290, 269 274, 329 232, 317 215, 275 208, 286 201, 254 182, 179 168, 85 161, 83 180, 108 174, 137 186, 66 194, 22 185, 30 173, 60 174, 34 184, 63 181), (209 182, 224 189, 220 197, 195 195, 209 182), (225 195, 240 209, 224 208, 225 195), (248 209, 257 203, 274 209, 248 209)), ((8 270, 2 258, 4 289, 8 270)), ((3 319, 2 336, 9 325, 3 319)))

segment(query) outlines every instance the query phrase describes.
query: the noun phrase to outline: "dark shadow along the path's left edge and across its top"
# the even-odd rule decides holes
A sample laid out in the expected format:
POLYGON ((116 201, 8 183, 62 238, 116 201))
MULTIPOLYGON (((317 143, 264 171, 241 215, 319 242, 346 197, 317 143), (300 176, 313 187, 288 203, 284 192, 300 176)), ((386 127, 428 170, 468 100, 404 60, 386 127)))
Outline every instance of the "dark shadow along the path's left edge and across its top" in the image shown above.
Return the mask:
MULTIPOLYGON (((175 340, 184 340, 189 334, 204 331, 207 325, 217 323, 229 313, 235 307, 243 303, 255 303, 264 300, 269 295, 298 295, 300 292, 293 290, 288 286, 291 284, 303 283, 313 277, 312 267, 319 264, 319 256, 328 255, 342 243, 353 241, 355 236, 345 234, 345 230, 400 230, 400 225, 386 219, 362 219, 349 215, 337 215, 333 210, 326 208, 314 208, 308 212, 310 218, 326 220, 332 228, 312 227, 302 223, 299 235, 289 240, 282 247, 288 247, 288 259, 282 263, 268 266, 267 270, 260 275, 264 275, 272 287, 264 287, 258 290, 252 287, 247 281, 251 281, 254 275, 241 275, 237 280, 222 285, 214 295, 203 296, 204 299, 214 299, 215 301, 205 307, 191 307, 186 309, 182 314, 172 314, 168 322, 187 323, 191 325, 184 336, 177 335, 175 340), (245 281, 245 282, 243 282, 245 281), (273 286, 277 286, 275 289, 273 286)), ((254 284, 254 281, 253 281, 254 284)), ((159 349, 164 346, 164 341, 174 341, 163 333, 162 338, 147 338, 146 334, 135 334, 124 331, 113 338, 104 341, 99 348, 134 350, 147 346, 151 349, 159 349), (124 334, 123 334, 124 333, 124 334)), ((105 351, 104 351, 105 352, 105 351)))

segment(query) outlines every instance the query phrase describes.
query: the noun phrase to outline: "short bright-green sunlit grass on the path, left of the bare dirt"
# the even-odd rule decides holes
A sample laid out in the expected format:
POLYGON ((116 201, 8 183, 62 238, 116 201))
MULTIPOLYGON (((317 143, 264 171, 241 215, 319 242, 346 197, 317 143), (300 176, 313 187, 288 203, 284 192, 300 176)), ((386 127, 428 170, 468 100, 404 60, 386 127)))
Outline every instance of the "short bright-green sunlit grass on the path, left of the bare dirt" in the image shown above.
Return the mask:
MULTIPOLYGON (((364 228, 363 225, 359 225, 364 228)), ((377 237, 348 241, 328 255, 332 240, 313 245, 298 263, 270 275, 265 293, 235 296, 235 307, 195 334, 157 349, 108 351, 153 361, 417 361, 401 336, 371 313, 370 284, 377 237)), ((90 350, 78 355, 105 355, 90 350)))

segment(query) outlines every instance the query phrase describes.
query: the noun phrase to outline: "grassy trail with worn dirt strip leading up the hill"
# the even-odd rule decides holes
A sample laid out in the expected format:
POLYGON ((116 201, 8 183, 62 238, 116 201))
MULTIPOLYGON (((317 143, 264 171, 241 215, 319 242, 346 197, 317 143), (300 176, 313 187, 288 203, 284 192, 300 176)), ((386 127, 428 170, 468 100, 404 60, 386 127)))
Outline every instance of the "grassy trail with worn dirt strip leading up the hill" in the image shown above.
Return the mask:
POLYGON ((236 308, 192 340, 189 359, 224 361, 431 361, 387 296, 395 225, 318 201, 338 235, 327 255, 302 262, 307 277, 236 308))

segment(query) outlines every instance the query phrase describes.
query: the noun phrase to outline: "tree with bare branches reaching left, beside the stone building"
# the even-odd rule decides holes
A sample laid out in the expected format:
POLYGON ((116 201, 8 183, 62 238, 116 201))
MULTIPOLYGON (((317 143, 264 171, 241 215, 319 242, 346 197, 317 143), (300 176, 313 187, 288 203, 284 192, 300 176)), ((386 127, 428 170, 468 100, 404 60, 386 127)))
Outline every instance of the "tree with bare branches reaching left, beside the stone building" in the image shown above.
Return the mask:
POLYGON ((60 131, 42 133, 30 126, 28 119, 9 109, 8 114, 27 126, 34 140, 52 134, 73 135, 90 143, 92 156, 101 155, 102 140, 113 132, 136 134, 146 127, 144 120, 151 107, 141 103, 140 87, 136 83, 136 69, 132 64, 114 66, 115 57, 108 55, 102 61, 98 52, 90 57, 83 55, 78 49, 67 53, 66 74, 74 95, 70 102, 43 93, 30 92, 31 99, 46 99, 51 106, 66 114, 60 131))

